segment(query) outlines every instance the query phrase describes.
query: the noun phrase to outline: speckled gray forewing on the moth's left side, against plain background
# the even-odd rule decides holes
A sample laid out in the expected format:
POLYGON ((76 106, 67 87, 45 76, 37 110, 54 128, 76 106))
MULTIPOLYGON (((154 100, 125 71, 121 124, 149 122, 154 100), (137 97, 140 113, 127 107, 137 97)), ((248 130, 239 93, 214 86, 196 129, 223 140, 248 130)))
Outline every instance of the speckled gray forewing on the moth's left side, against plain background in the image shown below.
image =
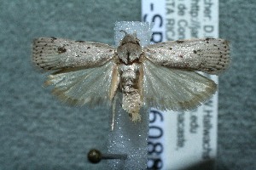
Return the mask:
POLYGON ((104 43, 41 37, 32 43, 32 61, 44 70, 103 65, 114 55, 104 43))

